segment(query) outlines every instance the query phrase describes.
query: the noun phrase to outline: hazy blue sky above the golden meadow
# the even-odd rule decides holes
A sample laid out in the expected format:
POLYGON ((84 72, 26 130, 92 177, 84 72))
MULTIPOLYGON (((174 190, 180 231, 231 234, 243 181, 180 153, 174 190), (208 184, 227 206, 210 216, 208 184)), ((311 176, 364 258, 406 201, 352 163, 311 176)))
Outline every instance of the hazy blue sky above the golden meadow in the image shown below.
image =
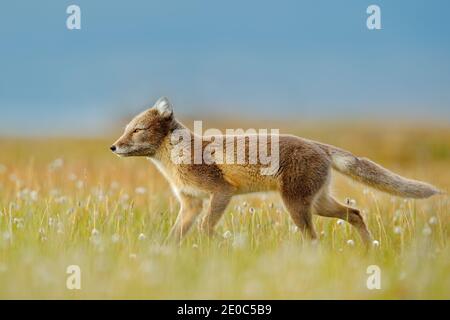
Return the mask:
POLYGON ((450 2, 9 1, 0 135, 102 134, 168 96, 175 113, 450 123, 450 2), (66 8, 81 8, 68 30, 66 8), (381 30, 366 27, 369 5, 381 30))

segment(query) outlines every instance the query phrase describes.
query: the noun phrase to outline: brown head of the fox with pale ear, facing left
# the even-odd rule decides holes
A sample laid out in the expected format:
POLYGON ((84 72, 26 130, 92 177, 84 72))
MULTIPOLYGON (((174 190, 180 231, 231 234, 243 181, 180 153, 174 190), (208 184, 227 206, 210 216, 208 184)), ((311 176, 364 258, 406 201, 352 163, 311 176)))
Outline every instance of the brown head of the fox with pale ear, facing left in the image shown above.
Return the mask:
POLYGON ((121 157, 151 157, 169 134, 173 119, 172 105, 162 97, 152 108, 131 120, 110 149, 121 157))

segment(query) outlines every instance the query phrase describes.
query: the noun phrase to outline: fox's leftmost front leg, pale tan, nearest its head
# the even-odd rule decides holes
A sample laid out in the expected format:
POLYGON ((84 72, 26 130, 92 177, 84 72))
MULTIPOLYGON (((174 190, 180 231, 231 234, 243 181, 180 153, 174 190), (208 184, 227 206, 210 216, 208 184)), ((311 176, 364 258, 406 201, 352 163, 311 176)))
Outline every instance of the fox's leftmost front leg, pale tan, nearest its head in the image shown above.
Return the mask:
POLYGON ((195 218, 201 213, 203 207, 202 199, 190 195, 180 194, 180 212, 173 225, 169 240, 180 242, 191 228, 195 218))

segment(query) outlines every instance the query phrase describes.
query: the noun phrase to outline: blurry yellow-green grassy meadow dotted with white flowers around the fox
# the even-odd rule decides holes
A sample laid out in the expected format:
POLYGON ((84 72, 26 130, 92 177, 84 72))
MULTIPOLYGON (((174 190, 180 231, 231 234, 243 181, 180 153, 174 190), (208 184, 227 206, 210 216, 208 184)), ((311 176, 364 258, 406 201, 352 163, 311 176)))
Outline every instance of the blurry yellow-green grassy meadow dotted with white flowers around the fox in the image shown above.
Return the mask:
MULTIPOLYGON (((450 188, 448 125, 262 127, 450 188)), ((165 244, 178 203, 149 161, 109 151, 119 134, 0 138, 0 298, 450 298, 448 195, 404 200, 335 173, 337 198, 363 211, 377 240, 368 252, 335 219, 315 217, 320 242, 305 241, 275 194, 234 198, 216 238, 195 226, 180 246, 165 244), (81 269, 80 290, 66 287, 69 265, 81 269), (366 286, 370 265, 381 270, 379 290, 366 286)))

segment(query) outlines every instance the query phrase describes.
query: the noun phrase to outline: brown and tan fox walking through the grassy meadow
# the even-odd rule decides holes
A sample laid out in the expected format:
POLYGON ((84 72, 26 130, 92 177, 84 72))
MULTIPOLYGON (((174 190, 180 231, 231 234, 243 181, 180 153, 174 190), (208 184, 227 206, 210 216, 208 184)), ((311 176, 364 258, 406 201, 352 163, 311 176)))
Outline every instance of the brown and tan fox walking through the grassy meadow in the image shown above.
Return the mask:
MULTIPOLYGON (((176 163, 171 157, 176 147, 171 135, 177 130, 186 130, 191 137, 200 139, 202 150, 210 142, 206 136, 195 137, 194 132, 175 118, 169 99, 161 97, 128 123, 110 149, 120 157, 148 158, 166 178, 180 203, 168 239, 178 242, 202 213, 205 199, 208 205, 200 230, 212 235, 234 195, 275 191, 306 239, 317 239, 312 222, 315 214, 348 222, 366 245, 372 243, 372 234, 360 210, 332 196, 332 169, 399 197, 422 199, 443 193, 431 184, 402 177, 367 158, 294 135, 277 137, 279 166, 272 174, 262 174, 258 163, 176 163)), ((226 138, 235 141, 239 137, 226 138)), ((248 144, 245 151, 248 158, 248 144)))

